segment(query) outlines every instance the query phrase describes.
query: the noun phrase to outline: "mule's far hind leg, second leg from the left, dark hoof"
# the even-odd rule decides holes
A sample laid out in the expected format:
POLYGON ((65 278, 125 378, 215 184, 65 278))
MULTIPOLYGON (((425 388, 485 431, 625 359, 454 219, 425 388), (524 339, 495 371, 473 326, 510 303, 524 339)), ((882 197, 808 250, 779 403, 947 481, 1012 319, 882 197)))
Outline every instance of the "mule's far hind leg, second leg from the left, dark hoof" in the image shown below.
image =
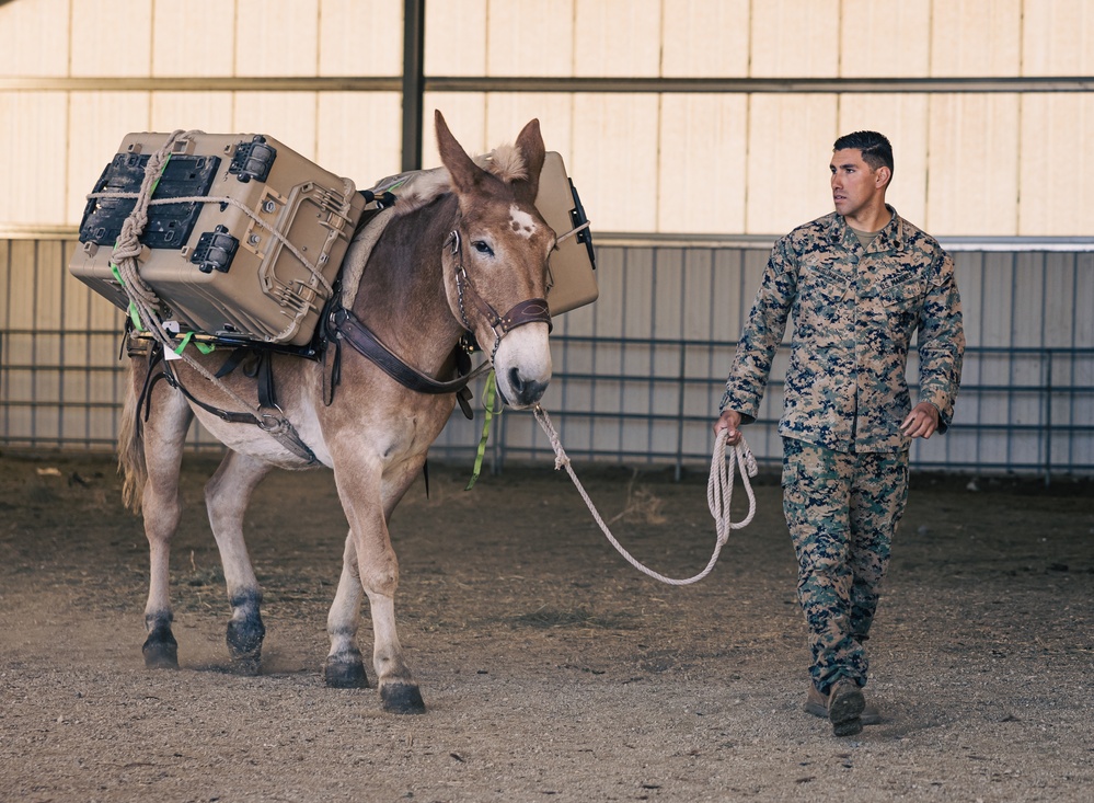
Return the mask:
POLYGON ((217 473, 205 486, 209 524, 220 549, 224 567, 228 600, 232 617, 228 621, 228 651, 238 672, 254 675, 262 663, 262 589, 254 576, 246 543, 243 541, 243 515, 251 494, 272 466, 256 458, 229 451, 217 473))

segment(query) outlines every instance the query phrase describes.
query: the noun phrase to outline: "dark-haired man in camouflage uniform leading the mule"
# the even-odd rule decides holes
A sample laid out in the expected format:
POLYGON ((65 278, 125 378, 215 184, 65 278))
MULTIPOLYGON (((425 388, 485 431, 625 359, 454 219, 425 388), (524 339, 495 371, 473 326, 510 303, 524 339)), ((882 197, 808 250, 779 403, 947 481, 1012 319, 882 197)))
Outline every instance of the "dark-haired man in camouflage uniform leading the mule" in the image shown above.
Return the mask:
POLYGON ((806 711, 837 736, 877 722, 863 642, 908 495, 912 438, 945 432, 965 335, 954 263, 885 203, 893 149, 874 131, 836 140, 836 211, 775 243, 745 324, 715 433, 755 421, 794 317, 783 415, 783 511, 798 560, 813 663, 806 711), (920 391, 905 379, 919 331, 920 391))

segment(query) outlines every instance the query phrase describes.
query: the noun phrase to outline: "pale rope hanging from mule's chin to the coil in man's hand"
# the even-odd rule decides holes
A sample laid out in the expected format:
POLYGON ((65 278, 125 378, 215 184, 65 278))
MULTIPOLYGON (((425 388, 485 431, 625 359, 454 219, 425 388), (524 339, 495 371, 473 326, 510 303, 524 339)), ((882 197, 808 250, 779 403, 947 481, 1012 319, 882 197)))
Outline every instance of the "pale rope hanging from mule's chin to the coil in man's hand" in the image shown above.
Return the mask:
POLYGON ((640 563, 630 552, 623 549, 618 540, 615 540, 615 537, 611 534, 608 525, 604 524, 604 520, 600 517, 600 513, 597 511, 596 505, 592 504, 592 500, 590 500, 588 493, 586 493, 580 480, 577 479, 577 474, 574 473, 574 469, 569 464, 569 457, 567 457, 565 449, 562 448, 562 441, 558 438, 558 433, 551 424, 551 417, 539 404, 536 405, 532 413, 536 415, 536 421, 539 422, 540 427, 542 427, 543 432, 546 433, 548 438, 551 440, 551 447, 554 449, 555 455, 555 471, 561 468, 566 469, 566 473, 569 474, 569 479, 574 481, 574 485, 577 487, 578 493, 580 493, 581 498, 585 500, 585 504, 589 508, 589 513, 592 514, 592 518, 596 519, 598 525, 600 525, 600 530, 604 534, 611 544, 621 555, 623 555, 623 558, 626 559, 627 563, 643 574, 648 574, 654 580, 659 580, 661 583, 667 583, 669 585, 691 585, 692 583, 698 583, 710 574, 714 569, 714 564, 718 562, 718 555, 722 553, 722 548, 726 544, 726 541, 729 540, 729 532, 732 530, 739 530, 747 527, 749 523, 751 523, 752 517, 756 516, 756 494, 752 493, 752 484, 748 481, 749 477, 756 477, 756 458, 752 457, 752 451, 748 448, 748 444, 746 444, 745 439, 741 438, 740 443, 733 447, 733 454, 727 460, 727 436, 726 431, 723 429, 718 433, 718 436, 714 441, 714 454, 711 458, 711 477, 706 483, 706 503, 711 509, 711 515, 714 517, 714 527, 718 535, 717 543, 714 546, 714 554, 711 555, 711 560, 706 564, 706 569, 696 574, 694 577, 676 580, 673 577, 666 577, 664 574, 658 574, 652 569, 648 569, 640 563), (733 521, 729 518, 729 503, 733 500, 734 472, 738 467, 740 468, 740 479, 745 483, 745 492, 748 494, 748 515, 740 521, 733 521))

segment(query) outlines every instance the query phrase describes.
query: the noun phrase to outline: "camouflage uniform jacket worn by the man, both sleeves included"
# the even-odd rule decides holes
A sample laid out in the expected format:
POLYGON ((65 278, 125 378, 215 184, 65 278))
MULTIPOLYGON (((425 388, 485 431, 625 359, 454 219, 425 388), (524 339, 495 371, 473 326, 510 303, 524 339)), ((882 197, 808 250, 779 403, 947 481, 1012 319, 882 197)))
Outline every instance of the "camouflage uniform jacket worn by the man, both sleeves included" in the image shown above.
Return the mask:
POLYGON ((948 428, 965 334, 954 262, 932 237, 893 219, 863 249, 832 213, 799 226, 771 251, 726 381, 722 410, 756 420, 775 349, 793 314, 779 434, 837 451, 906 448, 906 381, 919 330, 919 400, 948 428))

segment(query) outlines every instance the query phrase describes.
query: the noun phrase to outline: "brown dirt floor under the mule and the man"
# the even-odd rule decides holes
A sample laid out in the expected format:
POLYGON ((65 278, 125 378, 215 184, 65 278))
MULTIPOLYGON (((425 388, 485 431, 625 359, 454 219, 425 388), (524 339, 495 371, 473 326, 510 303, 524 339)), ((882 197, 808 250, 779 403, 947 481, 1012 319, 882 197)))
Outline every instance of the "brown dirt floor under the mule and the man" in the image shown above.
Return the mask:
MULTIPOLYGON (((247 532, 264 669, 227 670, 201 504, 214 466, 187 461, 182 668, 153 672, 147 546, 112 458, 0 456, 0 800, 1091 800, 1091 483, 913 475, 870 642, 885 721, 836 738, 801 710, 804 624, 771 475, 713 574, 670 587, 612 550, 551 463, 470 493, 469 466, 433 466, 429 497, 417 483, 392 527, 429 709, 398 716, 375 690, 322 682, 345 536, 327 472, 261 486, 247 532)), ((705 565, 705 472, 577 469, 640 560, 705 565)), ((367 621, 361 641, 367 654, 367 621)))

